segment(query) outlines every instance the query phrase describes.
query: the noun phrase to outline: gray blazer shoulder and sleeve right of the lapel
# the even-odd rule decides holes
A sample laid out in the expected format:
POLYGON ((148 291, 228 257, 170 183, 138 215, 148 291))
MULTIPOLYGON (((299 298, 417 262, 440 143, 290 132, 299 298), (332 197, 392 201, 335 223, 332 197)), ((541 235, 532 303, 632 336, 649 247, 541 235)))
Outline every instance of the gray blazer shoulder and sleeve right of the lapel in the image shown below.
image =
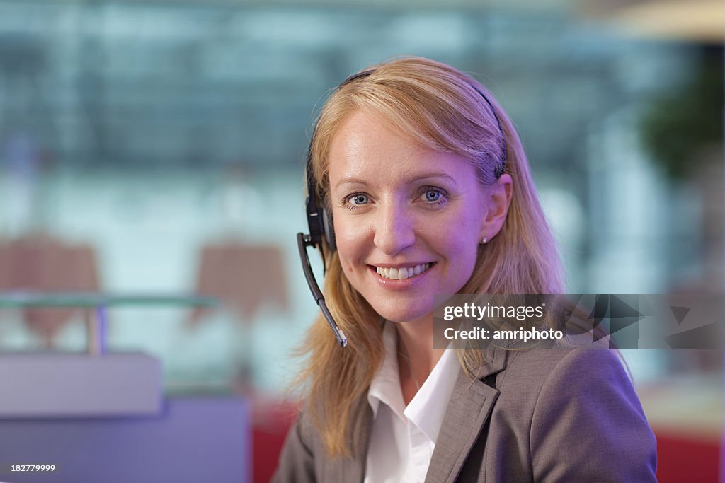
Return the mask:
POLYGON ((537 481, 654 481, 655 437, 615 350, 531 350, 505 372, 502 396, 526 401, 537 481))

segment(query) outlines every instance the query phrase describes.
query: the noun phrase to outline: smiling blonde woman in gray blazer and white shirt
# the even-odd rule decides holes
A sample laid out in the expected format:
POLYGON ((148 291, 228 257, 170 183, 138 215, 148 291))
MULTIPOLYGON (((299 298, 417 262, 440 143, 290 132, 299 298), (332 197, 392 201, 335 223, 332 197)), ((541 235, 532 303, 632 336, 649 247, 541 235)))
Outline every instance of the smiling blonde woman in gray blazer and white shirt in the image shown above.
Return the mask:
MULTIPOLYGON (((325 319, 277 482, 655 481, 610 350, 434 349, 434 294, 561 293, 512 123, 473 78, 405 58, 349 77, 310 143, 331 214, 325 319)), ((327 215, 326 215, 327 216, 327 215)))

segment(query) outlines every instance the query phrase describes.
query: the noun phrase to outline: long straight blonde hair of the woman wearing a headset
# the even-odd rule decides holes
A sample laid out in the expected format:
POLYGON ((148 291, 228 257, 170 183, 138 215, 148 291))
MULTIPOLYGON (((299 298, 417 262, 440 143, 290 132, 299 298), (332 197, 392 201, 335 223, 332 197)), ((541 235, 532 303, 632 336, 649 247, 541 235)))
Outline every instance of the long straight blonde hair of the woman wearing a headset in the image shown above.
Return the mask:
MULTIPOLYGON (((318 197, 328 209, 332 139, 350 114, 368 112, 397 126, 401 135, 419 146, 470 160, 481 185, 493 185, 502 164, 513 178, 507 219, 497 236, 479 246, 476 268, 460 293, 561 293, 560 259, 521 140, 493 96, 472 77, 429 59, 395 59, 370 70, 332 93, 312 135, 312 172, 318 197), (500 125, 482 94, 496 109, 500 125)), ((323 292, 331 314, 351 343, 341 349, 326 321, 318 316, 300 351, 308 358, 297 381, 305 387, 307 411, 328 455, 336 457, 364 450, 352 447, 357 421, 351 416, 357 404, 367 403, 364 396, 384 359, 384 348, 380 316, 350 285, 336 251, 325 247, 324 253, 323 292)), ((482 363, 481 350, 457 350, 457 355, 469 375, 482 363)))

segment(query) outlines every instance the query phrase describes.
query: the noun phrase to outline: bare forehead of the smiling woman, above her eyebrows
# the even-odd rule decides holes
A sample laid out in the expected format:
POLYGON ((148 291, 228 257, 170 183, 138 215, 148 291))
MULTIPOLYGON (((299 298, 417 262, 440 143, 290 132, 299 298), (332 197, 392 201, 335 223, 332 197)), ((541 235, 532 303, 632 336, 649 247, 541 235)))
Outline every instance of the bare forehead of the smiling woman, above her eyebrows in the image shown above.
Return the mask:
POLYGON ((351 180, 400 184, 428 175, 476 177, 462 156, 420 146, 386 119, 362 111, 347 117, 332 138, 328 175, 333 190, 351 180))

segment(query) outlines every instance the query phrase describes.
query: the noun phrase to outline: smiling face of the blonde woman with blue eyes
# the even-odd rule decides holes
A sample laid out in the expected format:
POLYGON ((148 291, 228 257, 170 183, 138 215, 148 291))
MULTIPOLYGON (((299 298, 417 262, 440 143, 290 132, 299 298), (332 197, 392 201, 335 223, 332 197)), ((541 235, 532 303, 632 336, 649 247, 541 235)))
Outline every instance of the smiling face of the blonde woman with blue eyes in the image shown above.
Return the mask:
POLYGON ((470 162, 357 112, 332 140, 329 180, 343 272, 378 314, 421 319, 468 282, 488 212, 470 162))

